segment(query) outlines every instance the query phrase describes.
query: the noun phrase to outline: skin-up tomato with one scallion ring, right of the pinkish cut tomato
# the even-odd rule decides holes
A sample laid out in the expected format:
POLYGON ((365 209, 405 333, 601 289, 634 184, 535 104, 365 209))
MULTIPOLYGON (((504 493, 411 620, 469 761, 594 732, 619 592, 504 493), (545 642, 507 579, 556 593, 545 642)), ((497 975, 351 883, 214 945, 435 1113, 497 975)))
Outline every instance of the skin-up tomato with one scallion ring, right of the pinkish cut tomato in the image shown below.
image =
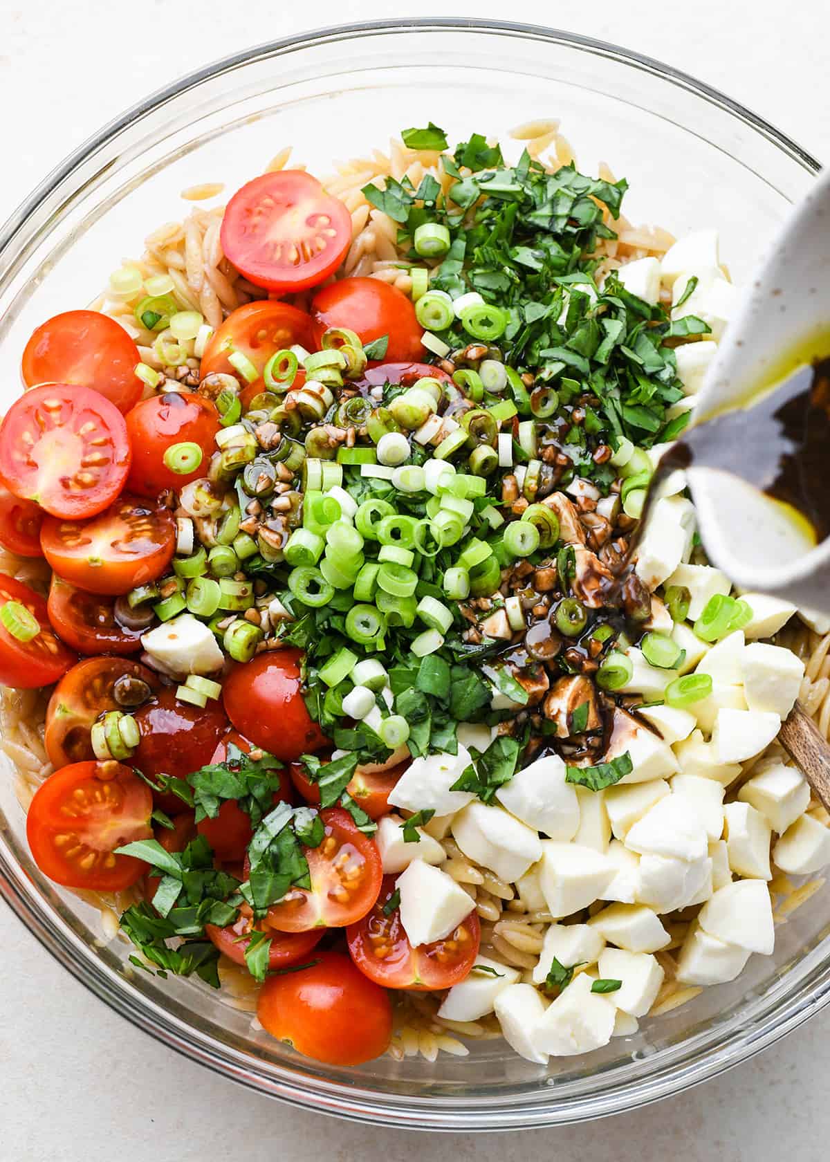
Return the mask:
POLYGON ((219 413, 203 395, 167 392, 142 400, 127 415, 133 445, 127 488, 139 496, 158 496, 166 488, 179 489, 207 475, 219 430, 219 413), (199 445, 202 458, 193 472, 173 472, 166 466, 164 453, 174 444, 199 445))

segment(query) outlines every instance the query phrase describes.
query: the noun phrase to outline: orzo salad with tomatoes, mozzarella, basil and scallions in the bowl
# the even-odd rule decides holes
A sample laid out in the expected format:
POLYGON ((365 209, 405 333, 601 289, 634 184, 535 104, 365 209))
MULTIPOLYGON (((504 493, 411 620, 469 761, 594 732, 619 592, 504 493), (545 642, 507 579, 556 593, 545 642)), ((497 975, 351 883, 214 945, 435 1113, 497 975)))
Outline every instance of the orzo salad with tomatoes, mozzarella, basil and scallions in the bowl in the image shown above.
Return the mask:
POLYGON ((630 1037, 830 861, 774 745, 794 608, 707 564, 681 468, 641 522, 731 313, 717 236, 523 136, 255 178, 38 327, 0 428, 35 861, 324 1062, 630 1037))

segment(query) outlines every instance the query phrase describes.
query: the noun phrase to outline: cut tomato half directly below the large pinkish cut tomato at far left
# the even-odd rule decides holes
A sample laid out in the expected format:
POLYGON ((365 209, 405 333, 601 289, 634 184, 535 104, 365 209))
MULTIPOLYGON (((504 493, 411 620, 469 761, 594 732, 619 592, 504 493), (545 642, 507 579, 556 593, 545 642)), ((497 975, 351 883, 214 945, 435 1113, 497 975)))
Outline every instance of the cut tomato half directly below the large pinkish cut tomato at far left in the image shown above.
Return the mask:
POLYGON ((176 551, 176 522, 170 509, 123 494, 91 521, 45 517, 41 545, 55 572, 78 589, 124 594, 164 573, 176 551))

